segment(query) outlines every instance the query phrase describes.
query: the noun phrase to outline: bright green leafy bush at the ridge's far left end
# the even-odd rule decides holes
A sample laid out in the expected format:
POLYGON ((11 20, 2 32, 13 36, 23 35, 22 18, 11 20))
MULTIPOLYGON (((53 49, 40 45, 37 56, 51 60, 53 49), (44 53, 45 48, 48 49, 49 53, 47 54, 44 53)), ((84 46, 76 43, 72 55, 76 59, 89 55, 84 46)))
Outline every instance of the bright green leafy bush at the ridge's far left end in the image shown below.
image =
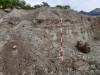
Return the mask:
POLYGON ((26 5, 26 2, 24 0, 0 0, 0 8, 6 9, 6 8, 32 8, 30 5, 26 5))

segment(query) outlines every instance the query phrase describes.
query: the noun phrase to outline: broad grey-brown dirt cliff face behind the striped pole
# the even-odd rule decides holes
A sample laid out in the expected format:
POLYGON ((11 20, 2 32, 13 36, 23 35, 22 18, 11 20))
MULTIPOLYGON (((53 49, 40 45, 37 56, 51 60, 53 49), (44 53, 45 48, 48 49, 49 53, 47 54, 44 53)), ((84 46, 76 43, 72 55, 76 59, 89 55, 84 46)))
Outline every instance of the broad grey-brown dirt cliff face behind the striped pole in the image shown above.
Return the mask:
POLYGON ((0 13, 0 75, 99 75, 99 20, 55 8, 0 13), (76 49, 79 40, 88 42, 90 53, 76 49))

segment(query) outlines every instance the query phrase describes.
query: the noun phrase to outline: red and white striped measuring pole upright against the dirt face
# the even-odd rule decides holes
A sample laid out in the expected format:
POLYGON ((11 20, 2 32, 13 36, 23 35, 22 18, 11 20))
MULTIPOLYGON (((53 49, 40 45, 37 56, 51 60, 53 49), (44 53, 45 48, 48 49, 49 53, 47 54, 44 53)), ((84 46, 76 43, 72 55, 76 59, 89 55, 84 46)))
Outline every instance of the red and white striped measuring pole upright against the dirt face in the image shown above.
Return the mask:
POLYGON ((60 62, 62 63, 64 61, 62 18, 61 18, 60 31, 61 31, 61 38, 60 38, 61 47, 60 47, 60 52, 59 52, 59 59, 60 59, 60 62))

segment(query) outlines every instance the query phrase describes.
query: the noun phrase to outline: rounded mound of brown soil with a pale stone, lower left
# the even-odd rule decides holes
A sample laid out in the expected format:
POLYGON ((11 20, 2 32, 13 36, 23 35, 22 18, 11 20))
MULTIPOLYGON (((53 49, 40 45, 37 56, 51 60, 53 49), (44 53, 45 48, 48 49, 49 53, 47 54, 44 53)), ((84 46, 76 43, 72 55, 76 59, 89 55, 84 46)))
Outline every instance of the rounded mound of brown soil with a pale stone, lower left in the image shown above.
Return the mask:
POLYGON ((18 40, 8 41, 3 46, 1 54, 4 75, 22 75, 32 65, 33 59, 26 47, 18 40))

